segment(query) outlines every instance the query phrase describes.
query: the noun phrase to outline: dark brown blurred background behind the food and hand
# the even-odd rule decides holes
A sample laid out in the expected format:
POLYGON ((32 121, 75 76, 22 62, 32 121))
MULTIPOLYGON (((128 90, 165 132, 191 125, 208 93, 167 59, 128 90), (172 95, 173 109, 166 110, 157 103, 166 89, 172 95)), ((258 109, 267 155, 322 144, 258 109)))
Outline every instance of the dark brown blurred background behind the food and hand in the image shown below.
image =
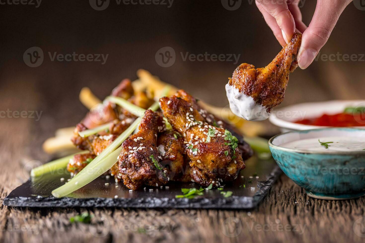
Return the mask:
MULTIPOLYGON (((110 0, 102 11, 92 8, 93 1, 42 1, 39 7, 36 1, 35 5, 9 1, 0 5, 0 110, 42 111, 30 132, 35 129, 45 137, 84 116, 87 110, 78 101, 84 86, 103 98, 121 79, 135 79, 136 71, 145 68, 206 102, 225 106, 224 85, 238 64, 265 66, 281 49, 251 0, 242 0, 234 11, 224 8, 219 0, 174 0, 171 5, 167 0, 163 1, 166 5, 141 4, 145 0, 126 5, 110 0), (29 67, 23 54, 34 46, 43 50, 44 60, 38 67, 29 67), (176 62, 161 67, 155 55, 166 46, 176 52, 176 62), (108 54, 108 58, 105 64, 60 62, 51 61, 48 52, 108 54), (193 62, 184 61, 180 52, 240 56, 238 63, 234 59, 193 62)), ((361 10, 357 2, 360 7, 350 3, 345 9, 320 54, 356 54, 362 61, 320 58, 306 70, 298 68, 290 75, 282 106, 364 98, 365 8, 361 10)), ((300 3, 307 25, 315 4, 310 0, 300 3)))

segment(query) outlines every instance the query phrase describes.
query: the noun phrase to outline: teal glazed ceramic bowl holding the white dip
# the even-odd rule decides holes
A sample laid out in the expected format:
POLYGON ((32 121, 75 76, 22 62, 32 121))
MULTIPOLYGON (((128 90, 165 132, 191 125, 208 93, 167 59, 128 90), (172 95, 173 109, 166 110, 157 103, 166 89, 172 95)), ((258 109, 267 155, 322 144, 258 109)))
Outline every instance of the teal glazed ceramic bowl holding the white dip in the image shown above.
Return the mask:
POLYGON ((365 195, 365 150, 356 152, 308 151, 284 148, 281 144, 318 137, 361 137, 365 130, 326 128, 279 134, 269 140, 270 151, 278 166, 308 196, 341 200, 365 195))

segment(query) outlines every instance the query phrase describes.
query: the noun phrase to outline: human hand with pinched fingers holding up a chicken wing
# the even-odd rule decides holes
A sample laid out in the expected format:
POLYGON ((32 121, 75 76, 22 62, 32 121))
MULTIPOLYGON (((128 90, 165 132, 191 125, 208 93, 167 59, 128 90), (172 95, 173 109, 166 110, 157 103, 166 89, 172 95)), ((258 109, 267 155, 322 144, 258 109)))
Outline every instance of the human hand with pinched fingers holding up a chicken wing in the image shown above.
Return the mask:
POLYGON ((301 18, 300 0, 256 0, 256 5, 278 42, 285 46, 294 32, 303 33, 298 66, 306 69, 326 44, 337 20, 351 0, 317 0, 311 23, 301 18))

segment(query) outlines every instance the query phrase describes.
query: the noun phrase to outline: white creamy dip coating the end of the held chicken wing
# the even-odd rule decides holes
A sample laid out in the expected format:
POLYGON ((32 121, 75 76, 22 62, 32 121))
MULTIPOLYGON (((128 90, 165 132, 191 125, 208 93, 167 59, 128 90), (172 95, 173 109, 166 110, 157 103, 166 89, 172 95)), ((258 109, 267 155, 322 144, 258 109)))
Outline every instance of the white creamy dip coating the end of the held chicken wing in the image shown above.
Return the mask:
POLYGON ((247 121, 262 121, 269 118, 266 107, 257 104, 251 96, 239 92, 233 85, 226 84, 227 98, 231 111, 247 121))

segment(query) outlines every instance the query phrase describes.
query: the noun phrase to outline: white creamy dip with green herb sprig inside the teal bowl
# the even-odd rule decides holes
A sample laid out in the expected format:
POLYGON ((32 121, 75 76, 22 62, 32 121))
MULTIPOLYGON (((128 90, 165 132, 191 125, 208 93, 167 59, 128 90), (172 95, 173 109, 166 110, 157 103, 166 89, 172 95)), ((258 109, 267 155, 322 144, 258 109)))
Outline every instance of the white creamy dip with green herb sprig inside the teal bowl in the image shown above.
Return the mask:
POLYGON ((320 137, 297 140, 281 144, 280 147, 303 149, 308 151, 334 152, 365 151, 365 138, 360 137, 320 137), (321 145, 322 142, 323 145, 321 145), (326 145, 328 148, 326 148, 326 145))

